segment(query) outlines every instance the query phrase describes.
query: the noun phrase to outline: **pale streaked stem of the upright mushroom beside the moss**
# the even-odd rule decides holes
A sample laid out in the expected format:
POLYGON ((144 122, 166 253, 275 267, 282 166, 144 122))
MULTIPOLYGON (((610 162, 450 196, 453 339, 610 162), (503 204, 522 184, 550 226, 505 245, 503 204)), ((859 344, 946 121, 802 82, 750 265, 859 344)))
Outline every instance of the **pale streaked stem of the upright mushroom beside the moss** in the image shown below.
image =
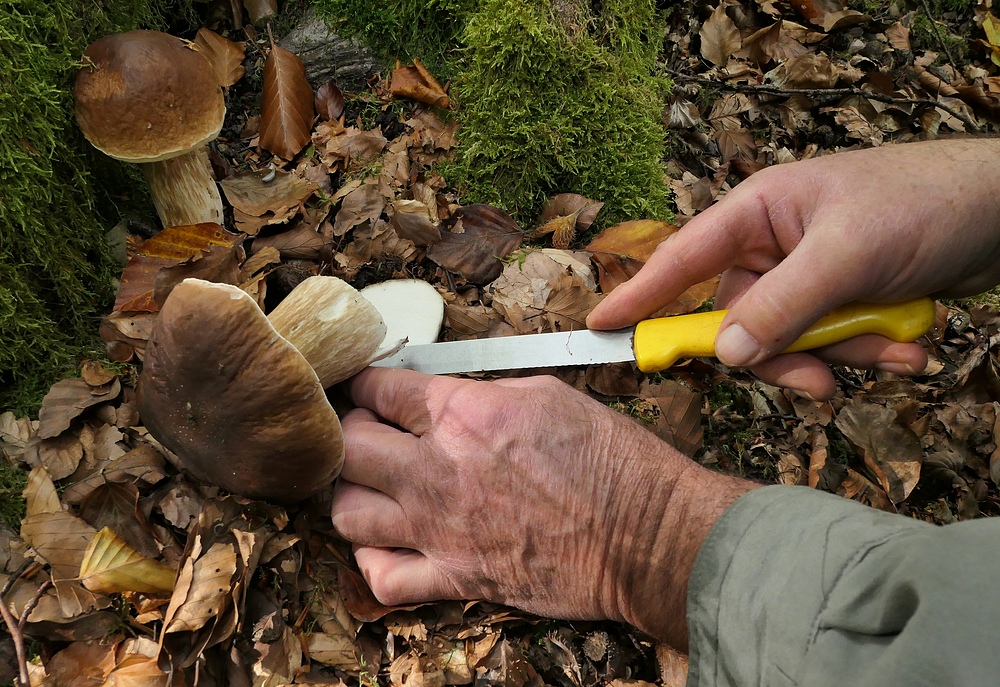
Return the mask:
POLYGON ((208 146, 169 160, 145 162, 142 171, 164 228, 222 224, 222 196, 208 159, 208 146))

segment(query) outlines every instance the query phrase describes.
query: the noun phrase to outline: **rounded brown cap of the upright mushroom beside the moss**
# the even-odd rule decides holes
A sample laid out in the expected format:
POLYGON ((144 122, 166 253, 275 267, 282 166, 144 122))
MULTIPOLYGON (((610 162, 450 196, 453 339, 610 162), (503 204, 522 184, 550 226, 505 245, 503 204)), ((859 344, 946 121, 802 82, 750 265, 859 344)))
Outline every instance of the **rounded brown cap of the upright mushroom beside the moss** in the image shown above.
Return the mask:
POLYGON ((74 88, 87 140, 125 162, 168 160, 219 135, 226 116, 211 62, 160 31, 105 36, 83 53, 91 64, 74 88))

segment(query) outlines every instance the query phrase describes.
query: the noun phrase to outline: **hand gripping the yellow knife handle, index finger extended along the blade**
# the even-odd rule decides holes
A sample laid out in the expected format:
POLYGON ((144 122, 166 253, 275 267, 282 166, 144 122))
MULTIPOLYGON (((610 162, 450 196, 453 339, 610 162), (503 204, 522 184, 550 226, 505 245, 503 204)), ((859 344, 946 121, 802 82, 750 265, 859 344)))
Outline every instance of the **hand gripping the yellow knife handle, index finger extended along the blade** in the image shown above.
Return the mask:
POLYGON ((915 374, 918 344, 879 336, 780 355, 844 303, 958 297, 1000 281, 1000 141, 955 139, 839 153, 762 170, 664 241, 587 320, 615 329, 722 273, 716 354, 814 399, 824 363, 915 374), (775 357, 777 356, 777 357, 775 357))

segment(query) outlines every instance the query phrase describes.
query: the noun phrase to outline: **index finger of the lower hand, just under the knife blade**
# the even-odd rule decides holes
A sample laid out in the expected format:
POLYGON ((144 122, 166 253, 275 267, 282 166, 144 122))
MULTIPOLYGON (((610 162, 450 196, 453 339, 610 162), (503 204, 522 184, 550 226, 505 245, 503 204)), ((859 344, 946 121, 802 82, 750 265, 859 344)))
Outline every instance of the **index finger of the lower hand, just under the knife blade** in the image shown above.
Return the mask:
POLYGON ((369 367, 348 382, 347 390, 354 405, 421 436, 431 425, 430 392, 438 386, 457 383, 459 380, 450 377, 413 370, 369 367))

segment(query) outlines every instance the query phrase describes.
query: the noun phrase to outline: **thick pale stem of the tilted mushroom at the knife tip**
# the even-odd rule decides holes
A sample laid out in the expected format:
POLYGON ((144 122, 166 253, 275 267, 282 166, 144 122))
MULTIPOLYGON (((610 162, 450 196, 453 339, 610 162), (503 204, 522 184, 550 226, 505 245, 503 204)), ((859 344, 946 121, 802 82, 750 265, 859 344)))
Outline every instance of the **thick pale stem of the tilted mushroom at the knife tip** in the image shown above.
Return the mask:
POLYGON ((309 361, 324 388, 367 367, 385 339, 378 310, 336 277, 309 277, 267 319, 309 361))

